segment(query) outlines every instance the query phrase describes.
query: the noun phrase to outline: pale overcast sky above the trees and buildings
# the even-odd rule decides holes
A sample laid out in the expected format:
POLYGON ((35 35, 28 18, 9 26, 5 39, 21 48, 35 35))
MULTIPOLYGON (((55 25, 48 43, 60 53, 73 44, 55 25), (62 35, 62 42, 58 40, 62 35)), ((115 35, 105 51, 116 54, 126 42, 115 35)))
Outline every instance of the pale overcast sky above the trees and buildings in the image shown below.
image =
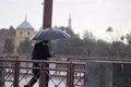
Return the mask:
MULTIPOLYGON (((24 20, 35 29, 43 24, 43 0, 0 0, 0 28, 17 27, 24 20)), ((68 26, 71 14, 75 33, 93 32, 106 38, 108 26, 120 34, 131 32, 131 0, 53 0, 52 26, 68 26)))

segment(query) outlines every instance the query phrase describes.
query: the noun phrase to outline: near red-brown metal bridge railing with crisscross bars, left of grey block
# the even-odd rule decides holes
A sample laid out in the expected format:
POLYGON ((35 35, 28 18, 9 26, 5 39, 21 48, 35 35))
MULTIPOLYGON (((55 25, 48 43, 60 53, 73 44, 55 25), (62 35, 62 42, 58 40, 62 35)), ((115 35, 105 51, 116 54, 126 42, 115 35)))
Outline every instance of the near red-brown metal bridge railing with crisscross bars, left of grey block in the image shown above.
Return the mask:
POLYGON ((32 70, 39 69, 40 77, 36 87, 45 87, 46 70, 49 71, 49 87, 85 87, 85 63, 61 61, 37 61, 0 59, 0 87, 23 87, 33 76, 32 70), (40 67, 33 67, 39 63, 40 67), (49 67, 46 67, 46 64, 49 67))

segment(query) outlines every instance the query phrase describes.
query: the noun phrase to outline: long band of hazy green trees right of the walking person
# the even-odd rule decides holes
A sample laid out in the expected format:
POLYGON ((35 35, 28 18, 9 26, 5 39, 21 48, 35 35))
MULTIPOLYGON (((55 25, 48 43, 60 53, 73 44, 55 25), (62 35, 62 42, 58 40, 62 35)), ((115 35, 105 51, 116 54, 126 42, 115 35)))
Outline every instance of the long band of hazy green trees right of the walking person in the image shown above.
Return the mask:
MULTIPOLYGON (((110 34, 112 42, 107 42, 102 39, 96 40, 92 33, 85 30, 83 39, 74 34, 69 27, 59 27, 71 35, 69 39, 53 40, 51 48, 57 54, 73 54, 73 55, 99 55, 99 57, 131 57, 131 44, 123 44, 124 37, 121 40, 114 40, 110 34, 114 29, 108 27, 106 32, 110 34)), ((130 40, 130 38, 128 37, 130 40)))

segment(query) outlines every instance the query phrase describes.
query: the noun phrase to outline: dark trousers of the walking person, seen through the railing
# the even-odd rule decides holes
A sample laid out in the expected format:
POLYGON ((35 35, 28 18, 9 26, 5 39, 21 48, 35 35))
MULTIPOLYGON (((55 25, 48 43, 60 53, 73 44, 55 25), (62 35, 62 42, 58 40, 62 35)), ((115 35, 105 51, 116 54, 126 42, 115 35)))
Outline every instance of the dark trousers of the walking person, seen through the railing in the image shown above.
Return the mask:
MULTIPOLYGON (((48 66, 48 65, 46 65, 46 66, 48 66)), ((33 86, 37 82, 37 79, 39 78, 40 70, 39 69, 33 69, 33 74, 34 74, 34 76, 29 80, 31 86, 33 86)), ((47 70, 46 71, 46 85, 45 85, 45 87, 48 87, 48 82, 49 82, 49 75, 48 74, 49 74, 49 71, 47 70)))

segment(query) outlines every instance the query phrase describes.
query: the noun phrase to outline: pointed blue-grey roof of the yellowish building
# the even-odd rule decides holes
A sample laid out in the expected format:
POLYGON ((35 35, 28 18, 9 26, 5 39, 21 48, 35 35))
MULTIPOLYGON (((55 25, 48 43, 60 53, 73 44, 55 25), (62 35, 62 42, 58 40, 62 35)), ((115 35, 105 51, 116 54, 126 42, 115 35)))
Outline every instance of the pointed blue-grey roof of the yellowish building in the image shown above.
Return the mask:
POLYGON ((16 29, 23 29, 23 30, 26 30, 26 29, 34 29, 33 26, 25 20, 22 24, 20 24, 16 29))

